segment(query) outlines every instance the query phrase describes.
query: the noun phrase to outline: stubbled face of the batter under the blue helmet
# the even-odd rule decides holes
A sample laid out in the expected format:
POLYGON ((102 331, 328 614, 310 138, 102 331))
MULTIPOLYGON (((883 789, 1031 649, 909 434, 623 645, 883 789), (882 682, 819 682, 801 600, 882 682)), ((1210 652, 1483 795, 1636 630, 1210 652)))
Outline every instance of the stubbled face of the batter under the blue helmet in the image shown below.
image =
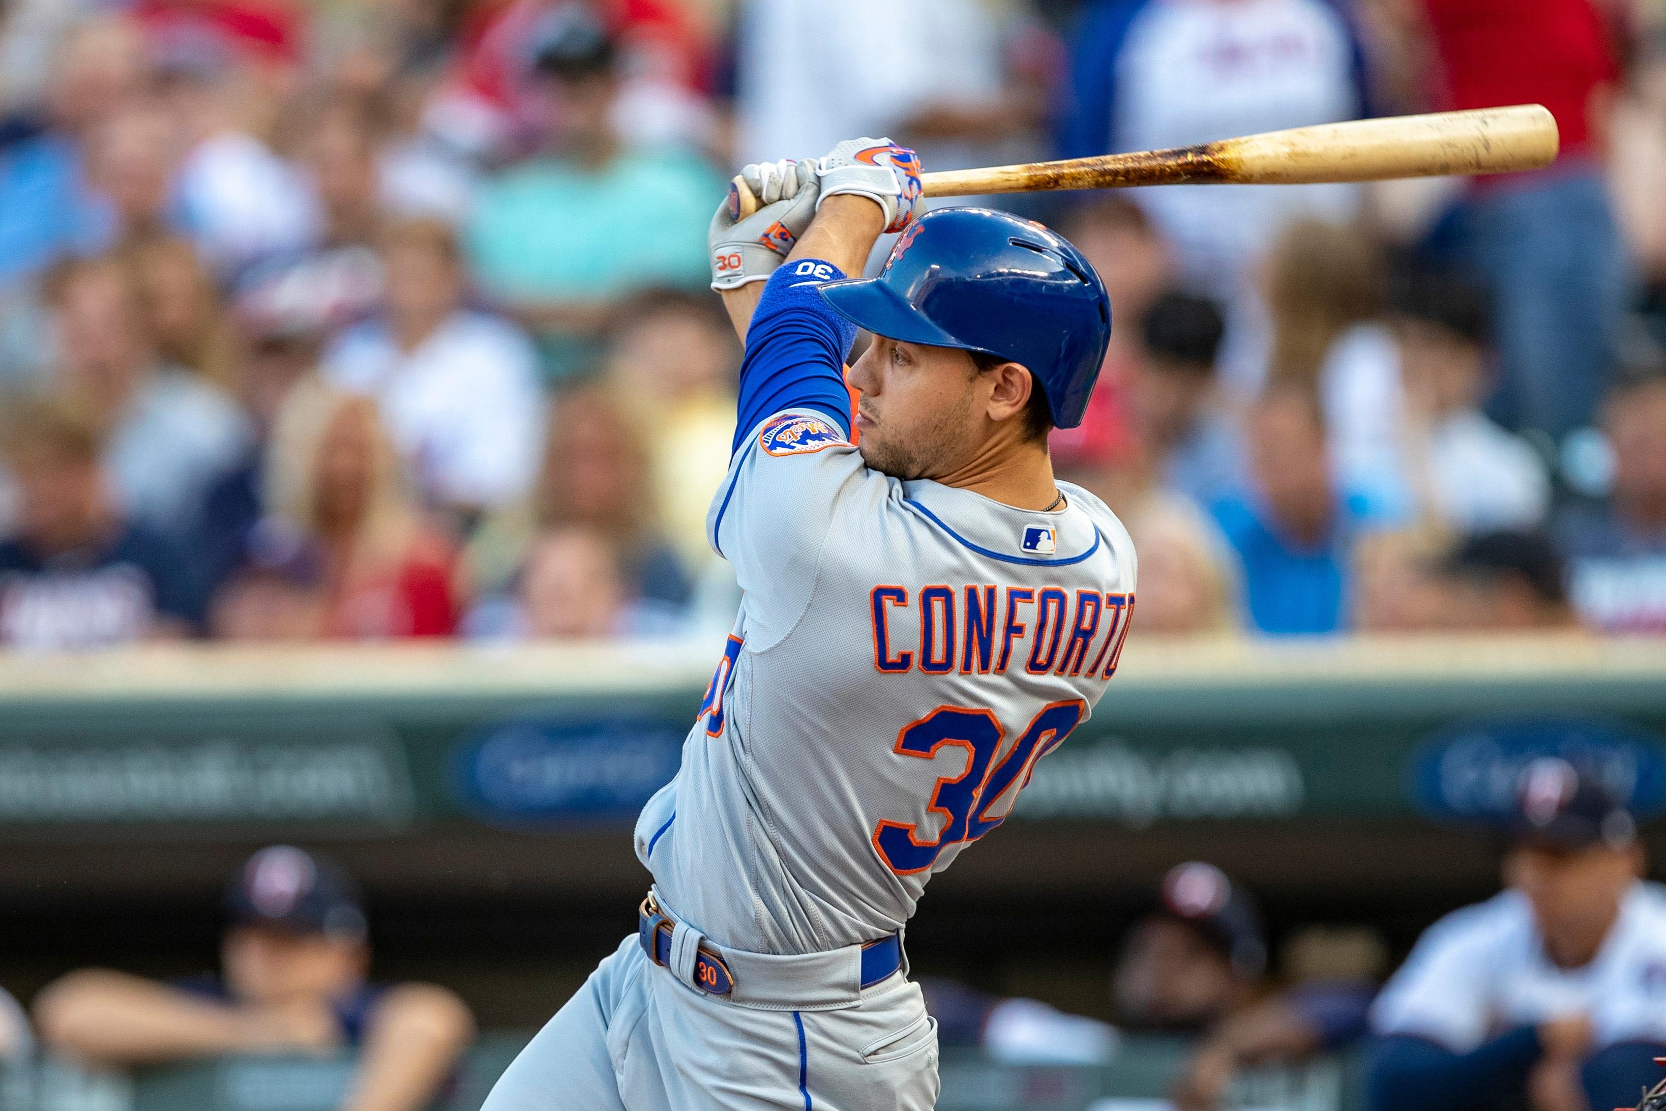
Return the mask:
POLYGON ((850 383, 861 458, 893 478, 950 475, 988 435, 990 381, 965 351, 875 336, 850 383))

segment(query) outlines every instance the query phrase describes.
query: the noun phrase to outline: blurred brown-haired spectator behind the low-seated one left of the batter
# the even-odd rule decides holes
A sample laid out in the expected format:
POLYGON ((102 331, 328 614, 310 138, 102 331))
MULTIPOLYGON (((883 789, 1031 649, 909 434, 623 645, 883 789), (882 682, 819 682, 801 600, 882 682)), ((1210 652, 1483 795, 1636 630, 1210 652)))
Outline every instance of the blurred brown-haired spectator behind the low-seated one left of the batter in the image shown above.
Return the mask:
POLYGON ((531 496, 488 518, 468 546, 473 593, 511 595, 533 538, 565 526, 596 531, 623 556, 626 596, 688 603, 688 571, 658 523, 643 430, 606 383, 555 400, 531 496))

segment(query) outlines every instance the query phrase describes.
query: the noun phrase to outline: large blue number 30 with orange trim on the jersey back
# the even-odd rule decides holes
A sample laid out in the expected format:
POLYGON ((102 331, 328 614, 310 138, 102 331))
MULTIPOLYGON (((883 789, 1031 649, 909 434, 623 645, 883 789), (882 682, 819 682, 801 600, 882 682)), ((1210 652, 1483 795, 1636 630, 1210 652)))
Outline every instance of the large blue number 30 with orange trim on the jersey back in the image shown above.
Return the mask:
POLYGON ((958 776, 943 776, 931 790, 928 808, 943 815, 941 833, 931 841, 921 841, 920 826, 881 821, 873 831, 873 848, 880 858, 900 876, 926 871, 950 844, 976 841, 1006 821, 1018 791, 1030 785, 1036 761, 1070 736, 1086 708, 1080 698, 1043 706, 995 768, 990 765, 1006 731, 988 710, 938 706, 906 725, 896 735, 900 756, 931 760, 943 748, 965 748, 966 770, 958 776), (1008 798, 1006 810, 991 818, 990 811, 1003 798, 1008 798))

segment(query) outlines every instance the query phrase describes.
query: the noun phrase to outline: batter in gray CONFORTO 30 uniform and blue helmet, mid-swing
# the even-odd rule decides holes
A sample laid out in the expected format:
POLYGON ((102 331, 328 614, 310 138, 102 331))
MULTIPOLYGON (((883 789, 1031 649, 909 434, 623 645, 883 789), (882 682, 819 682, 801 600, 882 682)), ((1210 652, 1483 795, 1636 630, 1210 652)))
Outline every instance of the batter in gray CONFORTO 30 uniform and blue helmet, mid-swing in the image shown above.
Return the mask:
POLYGON ((743 173, 763 208, 711 228, 746 351, 706 525, 745 598, 636 823, 638 933, 485 1111, 930 1108, 903 928, 1128 631, 1128 533, 1046 453, 1110 338, 1088 262, 1003 213, 918 215, 918 160, 888 140, 743 173), (881 275, 848 278, 886 230, 881 275))

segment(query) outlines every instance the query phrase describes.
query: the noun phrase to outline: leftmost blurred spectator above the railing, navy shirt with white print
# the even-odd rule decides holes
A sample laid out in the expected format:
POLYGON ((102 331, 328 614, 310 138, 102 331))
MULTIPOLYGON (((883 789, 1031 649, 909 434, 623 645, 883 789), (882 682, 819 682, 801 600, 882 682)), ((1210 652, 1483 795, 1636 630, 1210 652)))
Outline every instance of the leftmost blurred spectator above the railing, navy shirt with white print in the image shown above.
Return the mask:
POLYGON ((107 648, 183 636, 200 618, 183 553, 110 496, 97 423, 62 400, 8 401, 0 458, 18 491, 0 540, 0 645, 107 648))

